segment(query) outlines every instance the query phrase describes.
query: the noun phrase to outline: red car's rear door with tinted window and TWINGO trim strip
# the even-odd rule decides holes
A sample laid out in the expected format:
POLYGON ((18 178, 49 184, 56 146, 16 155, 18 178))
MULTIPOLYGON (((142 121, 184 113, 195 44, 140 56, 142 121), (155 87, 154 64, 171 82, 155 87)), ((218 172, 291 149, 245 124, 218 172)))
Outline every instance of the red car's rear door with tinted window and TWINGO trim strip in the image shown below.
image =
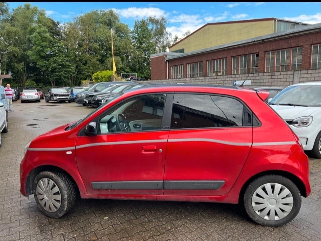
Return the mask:
POLYGON ((252 113, 238 99, 174 95, 164 195, 224 195, 252 146, 252 113))

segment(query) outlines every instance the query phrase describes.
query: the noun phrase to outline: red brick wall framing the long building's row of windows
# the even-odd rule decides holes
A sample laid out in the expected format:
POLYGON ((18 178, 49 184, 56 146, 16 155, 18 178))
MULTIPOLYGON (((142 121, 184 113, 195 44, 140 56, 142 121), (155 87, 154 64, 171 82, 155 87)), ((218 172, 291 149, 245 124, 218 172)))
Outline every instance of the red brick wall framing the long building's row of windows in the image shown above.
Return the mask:
MULTIPOLYGON (((168 75, 169 79, 171 78, 171 66, 175 65, 184 65, 184 77, 187 77, 187 64, 195 63, 203 61, 203 76, 207 74, 207 60, 218 59, 218 58, 227 58, 227 75, 231 75, 232 73, 232 57, 245 55, 245 54, 253 54, 259 53, 259 63, 258 63, 258 72, 265 72, 265 52, 277 50, 277 49, 287 49, 293 47, 302 46, 302 69, 309 69, 311 66, 311 51, 312 45, 321 43, 321 32, 309 33, 295 37, 283 38, 280 40, 273 41, 264 41, 261 43, 238 47, 233 49, 221 50, 212 53, 200 54, 197 56, 178 58, 174 60, 170 60, 168 64, 168 75)), ((159 59, 160 57, 154 57, 151 59, 151 67, 152 67, 152 80, 156 79, 166 79, 166 62, 163 62, 159 59), (157 58, 157 59, 154 59, 157 58), (162 68, 162 66, 165 68, 162 68)))

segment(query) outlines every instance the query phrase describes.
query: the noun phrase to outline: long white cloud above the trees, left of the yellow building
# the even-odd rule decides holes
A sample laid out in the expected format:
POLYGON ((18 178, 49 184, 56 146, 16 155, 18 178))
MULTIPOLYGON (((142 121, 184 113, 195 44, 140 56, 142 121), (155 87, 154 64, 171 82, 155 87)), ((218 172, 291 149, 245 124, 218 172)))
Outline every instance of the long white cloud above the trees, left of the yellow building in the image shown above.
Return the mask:
POLYGON ((149 16, 155 16, 156 18, 160 18, 161 16, 167 16, 164 10, 155 7, 129 7, 129 8, 122 8, 122 9, 115 9, 113 10, 118 13, 123 18, 145 18, 149 16))

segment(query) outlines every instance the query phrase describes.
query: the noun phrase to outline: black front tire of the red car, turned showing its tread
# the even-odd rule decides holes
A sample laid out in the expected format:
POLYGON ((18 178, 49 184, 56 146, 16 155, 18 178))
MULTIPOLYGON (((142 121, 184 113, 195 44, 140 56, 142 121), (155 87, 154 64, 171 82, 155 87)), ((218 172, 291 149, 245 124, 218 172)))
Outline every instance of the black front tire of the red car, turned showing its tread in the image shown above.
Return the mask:
POLYGON ((68 175, 58 171, 40 172, 33 181, 33 195, 40 211, 51 218, 60 218, 63 215, 65 215, 74 206, 74 202, 76 200, 76 191, 75 191, 75 186, 73 185, 73 181, 68 175), (54 183, 56 183, 60 191, 60 195, 61 195, 60 207, 55 212, 50 212, 45 210, 41 206, 38 200, 37 191, 36 191, 37 183, 42 178, 51 179, 54 183))

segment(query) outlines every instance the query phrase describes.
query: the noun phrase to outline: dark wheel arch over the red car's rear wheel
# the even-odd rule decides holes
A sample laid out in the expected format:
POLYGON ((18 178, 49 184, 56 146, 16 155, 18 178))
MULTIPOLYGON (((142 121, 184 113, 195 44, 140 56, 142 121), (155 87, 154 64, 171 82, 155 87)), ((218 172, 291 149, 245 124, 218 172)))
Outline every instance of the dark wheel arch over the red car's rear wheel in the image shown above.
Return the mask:
POLYGON ((253 182, 255 179, 261 177, 261 176, 265 176, 265 175, 280 175, 280 176, 284 176, 287 177, 288 179, 290 179, 299 189, 301 196, 303 197, 307 197, 307 191, 306 188, 304 186, 304 183, 301 181, 301 179, 299 177, 297 177, 296 175, 287 172, 287 171, 283 171, 283 170, 268 170, 268 171, 263 171, 260 173, 255 174, 254 176, 250 177, 243 185, 242 188, 239 192, 239 203, 243 203, 243 196, 244 193, 248 187, 248 185, 253 182))

